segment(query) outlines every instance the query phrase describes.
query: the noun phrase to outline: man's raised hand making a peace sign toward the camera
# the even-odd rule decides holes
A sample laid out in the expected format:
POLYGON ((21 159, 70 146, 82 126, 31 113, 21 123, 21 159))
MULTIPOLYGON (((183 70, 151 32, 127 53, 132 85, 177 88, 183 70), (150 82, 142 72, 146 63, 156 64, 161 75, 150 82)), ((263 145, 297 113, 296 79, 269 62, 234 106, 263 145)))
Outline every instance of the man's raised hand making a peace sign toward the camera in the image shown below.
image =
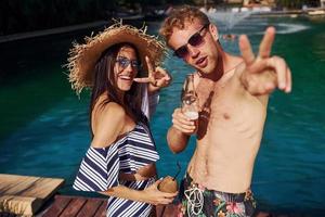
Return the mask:
POLYGON ((269 94, 275 88, 286 93, 291 91, 291 72, 285 60, 270 56, 274 37, 275 28, 269 27, 260 43, 257 58, 251 51, 247 36, 239 37, 239 49, 245 62, 245 68, 239 69, 240 80, 253 95, 269 94))

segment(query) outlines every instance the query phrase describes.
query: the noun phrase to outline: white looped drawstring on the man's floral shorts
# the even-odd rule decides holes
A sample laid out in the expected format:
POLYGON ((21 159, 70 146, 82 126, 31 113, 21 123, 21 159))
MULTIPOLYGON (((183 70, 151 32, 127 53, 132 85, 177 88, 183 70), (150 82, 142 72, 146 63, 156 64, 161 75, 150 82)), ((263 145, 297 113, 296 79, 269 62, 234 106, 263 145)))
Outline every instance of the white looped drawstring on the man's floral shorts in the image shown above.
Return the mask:
POLYGON ((197 186, 194 186, 191 189, 185 190, 184 194, 186 196, 186 200, 188 201, 186 208, 190 216, 192 216, 192 214, 195 216, 200 214, 204 206, 203 190, 197 188, 197 186))

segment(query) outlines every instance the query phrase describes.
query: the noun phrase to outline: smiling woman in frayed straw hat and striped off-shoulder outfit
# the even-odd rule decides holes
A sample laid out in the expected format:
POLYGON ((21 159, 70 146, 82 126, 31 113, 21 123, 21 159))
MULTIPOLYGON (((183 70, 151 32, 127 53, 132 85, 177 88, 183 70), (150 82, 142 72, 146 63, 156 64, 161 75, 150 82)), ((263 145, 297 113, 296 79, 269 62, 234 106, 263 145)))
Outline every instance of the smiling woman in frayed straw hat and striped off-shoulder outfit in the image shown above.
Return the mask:
POLYGON ((79 93, 92 87, 93 138, 74 188, 108 195, 109 217, 150 216, 152 205, 171 203, 176 196, 157 189, 155 162, 159 156, 143 113, 148 102, 142 102, 147 91, 170 82, 162 68, 152 65, 160 62, 164 52, 154 37, 127 25, 114 25, 86 44, 75 44, 70 52, 73 88, 79 93), (145 63, 148 77, 136 78, 140 62, 145 63))

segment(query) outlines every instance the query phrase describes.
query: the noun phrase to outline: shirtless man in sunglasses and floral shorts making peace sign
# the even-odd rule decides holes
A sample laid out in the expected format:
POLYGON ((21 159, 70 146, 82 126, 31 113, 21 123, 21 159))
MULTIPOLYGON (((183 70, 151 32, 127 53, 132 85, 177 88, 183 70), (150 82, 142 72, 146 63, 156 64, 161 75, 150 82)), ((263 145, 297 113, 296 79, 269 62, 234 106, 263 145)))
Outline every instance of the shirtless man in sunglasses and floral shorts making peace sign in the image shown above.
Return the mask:
POLYGON ((174 54, 196 68, 198 126, 181 108, 172 115, 167 140, 183 151, 192 135, 196 149, 184 179, 185 216, 251 216, 250 192, 256 155, 266 117, 269 93, 291 90, 285 61, 270 56, 275 29, 269 27, 255 56, 246 36, 239 37, 242 58, 223 51, 217 26, 196 8, 174 10, 160 35, 174 54))

